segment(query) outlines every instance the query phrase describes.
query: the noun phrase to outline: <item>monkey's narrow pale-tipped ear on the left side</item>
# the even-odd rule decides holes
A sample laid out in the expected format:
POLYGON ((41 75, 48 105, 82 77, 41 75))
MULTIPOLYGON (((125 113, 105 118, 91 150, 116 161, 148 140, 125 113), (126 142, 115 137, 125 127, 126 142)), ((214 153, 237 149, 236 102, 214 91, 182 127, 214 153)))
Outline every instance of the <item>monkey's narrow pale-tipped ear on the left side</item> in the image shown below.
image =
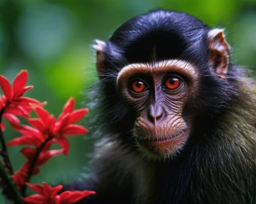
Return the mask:
POLYGON ((92 46, 96 50, 96 66, 99 77, 102 76, 104 71, 104 49, 106 43, 102 40, 95 40, 95 44, 92 46))

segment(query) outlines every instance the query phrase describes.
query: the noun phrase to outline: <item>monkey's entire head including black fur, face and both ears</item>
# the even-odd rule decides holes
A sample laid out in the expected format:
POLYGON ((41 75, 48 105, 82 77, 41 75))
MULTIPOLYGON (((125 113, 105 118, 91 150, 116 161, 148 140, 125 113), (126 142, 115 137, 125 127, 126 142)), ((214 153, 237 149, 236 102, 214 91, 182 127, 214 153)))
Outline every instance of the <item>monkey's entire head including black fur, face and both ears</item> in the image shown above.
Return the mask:
POLYGON ((234 93, 223 29, 184 13, 137 16, 94 48, 110 125, 149 156, 182 152, 234 93))

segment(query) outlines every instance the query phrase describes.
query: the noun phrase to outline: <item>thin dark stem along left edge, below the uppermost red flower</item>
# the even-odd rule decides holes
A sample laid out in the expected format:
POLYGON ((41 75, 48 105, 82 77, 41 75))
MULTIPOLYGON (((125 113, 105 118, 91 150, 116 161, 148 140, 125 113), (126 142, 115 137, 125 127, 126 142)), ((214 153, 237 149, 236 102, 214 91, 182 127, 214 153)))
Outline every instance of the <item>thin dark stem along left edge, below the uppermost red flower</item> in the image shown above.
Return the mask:
MULTIPOLYGON (((7 106, 8 105, 9 104, 7 103, 7 106)), ((2 118, 3 118, 4 112, 5 112, 5 108, 3 108, 0 112, 0 124, 2 123, 2 118)), ((2 151, 3 151, 1 155, 4 157, 4 162, 5 162, 6 167, 10 171, 11 175, 13 175, 14 174, 13 167, 12 167, 12 164, 11 164, 11 161, 9 158, 9 154, 8 154, 8 151, 6 148, 4 134, 3 134, 3 131, 1 128, 0 128, 0 142, 1 142, 1 147, 2 147, 2 151)))

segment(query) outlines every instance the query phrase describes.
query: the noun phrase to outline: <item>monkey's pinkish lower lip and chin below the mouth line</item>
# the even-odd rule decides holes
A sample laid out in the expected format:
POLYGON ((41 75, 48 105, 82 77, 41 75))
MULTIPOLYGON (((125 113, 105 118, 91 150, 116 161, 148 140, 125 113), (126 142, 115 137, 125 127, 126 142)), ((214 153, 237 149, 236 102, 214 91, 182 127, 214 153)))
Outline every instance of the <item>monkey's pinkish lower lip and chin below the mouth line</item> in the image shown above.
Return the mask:
POLYGON ((152 158, 173 158, 181 153, 189 137, 189 131, 182 131, 175 137, 166 137, 161 140, 140 141, 137 143, 145 155, 152 158))

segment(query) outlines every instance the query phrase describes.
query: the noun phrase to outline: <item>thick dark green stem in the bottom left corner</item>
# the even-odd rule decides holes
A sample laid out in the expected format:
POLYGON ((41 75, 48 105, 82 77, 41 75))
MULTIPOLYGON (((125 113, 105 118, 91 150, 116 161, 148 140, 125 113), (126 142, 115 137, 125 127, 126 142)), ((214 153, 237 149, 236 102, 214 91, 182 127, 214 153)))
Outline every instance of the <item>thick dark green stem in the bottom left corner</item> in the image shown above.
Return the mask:
POLYGON ((24 201, 22 200, 22 197, 20 196, 15 184, 13 183, 13 180, 6 173, 5 167, 3 166, 3 164, 1 162, 0 162, 0 177, 2 178, 4 184, 7 188, 8 195, 10 195, 10 196, 8 196, 8 199, 13 200, 15 204, 24 203, 24 201))

